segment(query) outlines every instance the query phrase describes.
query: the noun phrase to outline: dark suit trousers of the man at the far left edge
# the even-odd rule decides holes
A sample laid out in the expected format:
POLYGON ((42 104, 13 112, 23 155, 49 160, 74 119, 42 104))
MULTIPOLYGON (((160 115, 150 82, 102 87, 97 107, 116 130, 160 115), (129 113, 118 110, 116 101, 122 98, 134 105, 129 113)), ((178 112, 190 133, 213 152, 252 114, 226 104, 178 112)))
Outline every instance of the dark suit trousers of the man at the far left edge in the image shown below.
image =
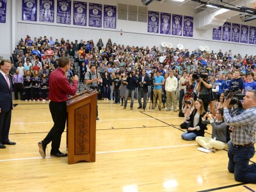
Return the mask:
POLYGON ((12 109, 0 113, 0 143, 9 141, 9 131, 12 118, 12 109))

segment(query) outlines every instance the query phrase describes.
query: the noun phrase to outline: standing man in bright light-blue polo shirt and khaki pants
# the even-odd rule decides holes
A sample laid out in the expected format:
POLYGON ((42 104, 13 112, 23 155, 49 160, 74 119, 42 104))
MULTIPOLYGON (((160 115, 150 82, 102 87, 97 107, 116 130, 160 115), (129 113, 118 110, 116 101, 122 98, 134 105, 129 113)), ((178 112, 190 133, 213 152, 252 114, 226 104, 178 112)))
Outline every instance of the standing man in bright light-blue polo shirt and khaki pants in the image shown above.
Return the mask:
MULTIPOLYGON (((156 76, 154 79, 154 90, 153 90, 153 105, 152 109, 156 108, 156 97, 158 96, 159 104, 162 104, 162 86, 164 84, 164 77, 160 76, 159 71, 156 72, 156 76)), ((159 109, 161 109, 159 107, 159 109)))

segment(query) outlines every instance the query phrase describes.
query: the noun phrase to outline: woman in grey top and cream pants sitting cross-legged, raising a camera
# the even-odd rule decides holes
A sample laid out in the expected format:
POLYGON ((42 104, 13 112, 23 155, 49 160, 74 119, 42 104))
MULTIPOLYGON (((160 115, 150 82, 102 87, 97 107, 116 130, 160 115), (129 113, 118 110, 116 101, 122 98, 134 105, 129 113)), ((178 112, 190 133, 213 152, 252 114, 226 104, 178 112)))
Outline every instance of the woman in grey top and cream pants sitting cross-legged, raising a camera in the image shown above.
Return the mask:
POLYGON ((223 109, 218 109, 216 111, 216 119, 212 118, 211 113, 206 113, 202 118, 203 124, 212 125, 212 138, 199 136, 196 138, 198 145, 216 152, 217 150, 222 150, 225 148, 227 141, 227 125, 223 119, 223 109), (205 120, 208 118, 208 120, 205 120))

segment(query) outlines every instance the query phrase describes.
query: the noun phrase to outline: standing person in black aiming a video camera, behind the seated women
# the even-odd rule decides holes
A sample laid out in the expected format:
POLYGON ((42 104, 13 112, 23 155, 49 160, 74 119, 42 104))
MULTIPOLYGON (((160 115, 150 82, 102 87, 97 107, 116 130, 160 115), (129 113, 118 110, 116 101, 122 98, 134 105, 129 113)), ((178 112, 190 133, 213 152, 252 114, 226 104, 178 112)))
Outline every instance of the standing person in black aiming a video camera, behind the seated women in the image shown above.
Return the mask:
MULTIPOLYGON (((208 74, 204 74, 208 75, 208 74)), ((211 92, 212 84, 209 83, 208 78, 202 79, 199 77, 197 91, 200 92, 198 98, 202 99, 204 102, 204 110, 207 111, 209 103, 211 102, 210 92, 211 92)))

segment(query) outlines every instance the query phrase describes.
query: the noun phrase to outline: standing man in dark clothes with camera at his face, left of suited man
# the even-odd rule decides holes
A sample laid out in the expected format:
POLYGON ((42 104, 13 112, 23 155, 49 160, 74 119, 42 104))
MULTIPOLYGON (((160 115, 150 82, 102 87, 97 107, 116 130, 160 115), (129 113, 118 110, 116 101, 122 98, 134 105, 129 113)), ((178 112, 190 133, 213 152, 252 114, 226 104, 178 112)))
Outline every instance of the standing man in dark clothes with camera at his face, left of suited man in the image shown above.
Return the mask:
POLYGON ((133 102, 134 102, 134 93, 135 93, 135 87, 136 83, 138 81, 138 78, 135 76, 135 70, 132 70, 131 73, 127 73, 127 90, 125 92, 125 100, 124 100, 124 109, 126 109, 127 106, 127 100, 129 95, 131 95, 131 110, 133 109, 133 102))

